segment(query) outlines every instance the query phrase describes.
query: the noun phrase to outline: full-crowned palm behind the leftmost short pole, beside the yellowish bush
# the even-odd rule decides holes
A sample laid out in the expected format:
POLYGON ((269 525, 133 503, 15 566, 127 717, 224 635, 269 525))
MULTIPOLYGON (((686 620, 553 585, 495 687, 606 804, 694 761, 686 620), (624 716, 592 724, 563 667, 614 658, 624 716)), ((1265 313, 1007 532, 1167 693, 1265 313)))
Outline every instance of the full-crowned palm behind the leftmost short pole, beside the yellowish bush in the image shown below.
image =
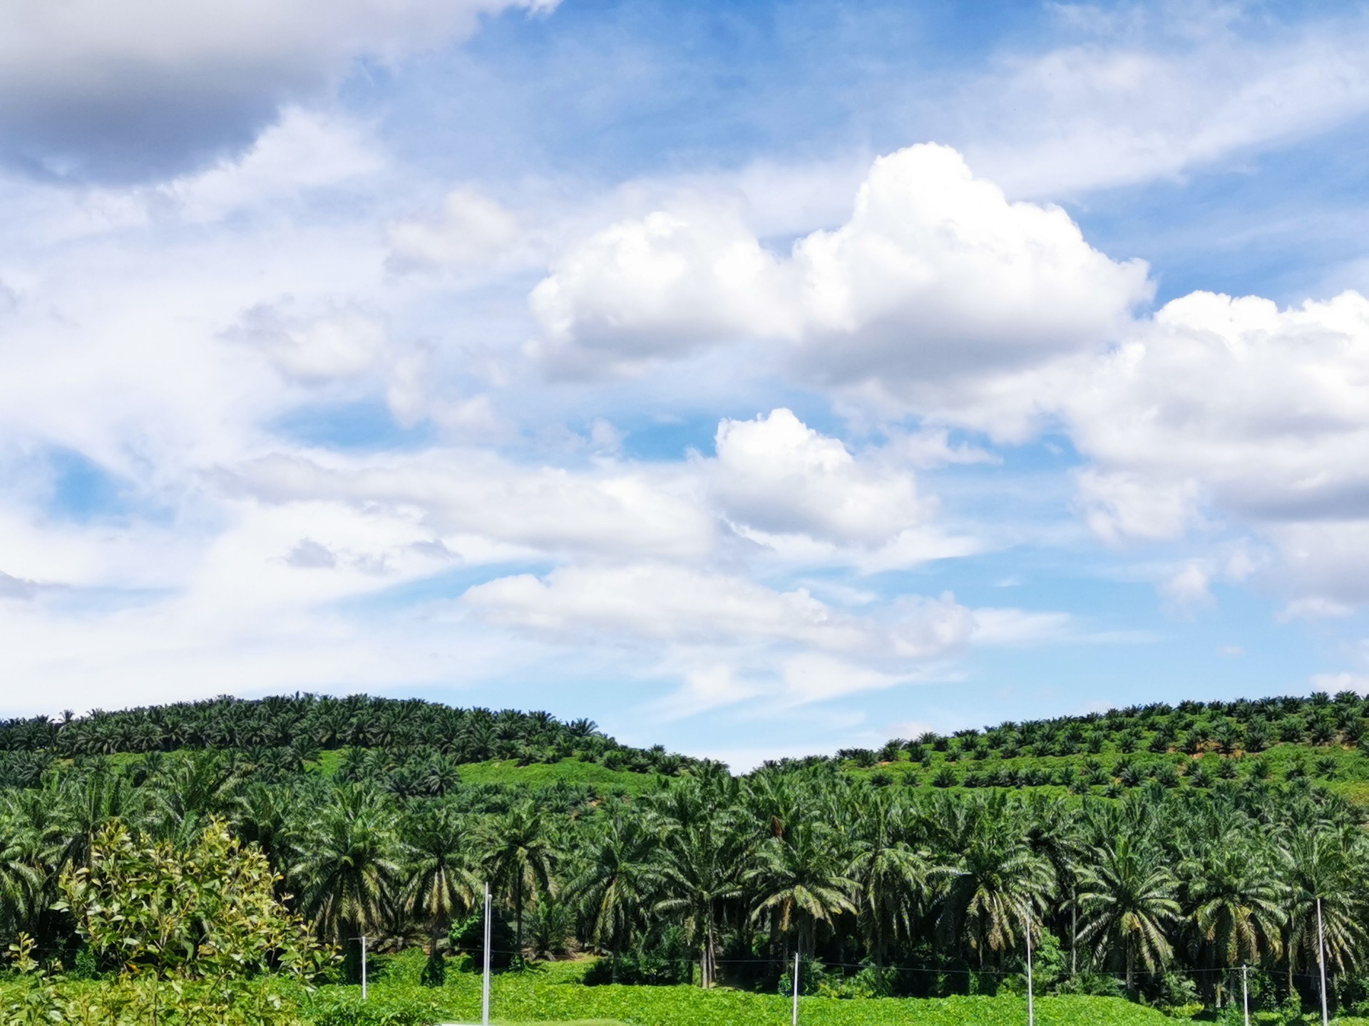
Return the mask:
POLYGON ((375 792, 348 784, 296 833, 290 878, 320 938, 341 947, 385 923, 400 876, 396 826, 375 792))

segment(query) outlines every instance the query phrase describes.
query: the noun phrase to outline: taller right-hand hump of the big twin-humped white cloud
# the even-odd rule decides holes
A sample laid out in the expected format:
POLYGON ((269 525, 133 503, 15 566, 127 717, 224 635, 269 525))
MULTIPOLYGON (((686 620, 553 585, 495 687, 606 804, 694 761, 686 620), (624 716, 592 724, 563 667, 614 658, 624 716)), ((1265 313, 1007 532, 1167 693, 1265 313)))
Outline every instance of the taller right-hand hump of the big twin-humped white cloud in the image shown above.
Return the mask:
POLYGON ((1062 209, 1009 202, 935 145, 876 160, 846 224, 794 259, 804 358, 831 380, 914 391, 1092 349, 1151 291, 1142 261, 1113 261, 1062 209))

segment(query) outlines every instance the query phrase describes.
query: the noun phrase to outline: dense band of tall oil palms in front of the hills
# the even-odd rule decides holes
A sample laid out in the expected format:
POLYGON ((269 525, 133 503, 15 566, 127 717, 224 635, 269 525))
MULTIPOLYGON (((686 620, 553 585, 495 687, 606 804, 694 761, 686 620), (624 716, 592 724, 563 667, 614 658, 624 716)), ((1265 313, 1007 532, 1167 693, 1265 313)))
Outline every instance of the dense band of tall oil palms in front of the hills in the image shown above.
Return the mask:
POLYGON ((1029 934, 1060 990, 1217 1005, 1225 971, 1249 964, 1265 1000, 1316 1004, 1320 902, 1328 997, 1366 999, 1364 817, 1306 780, 1114 800, 879 787, 830 761, 746 777, 698 763, 634 798, 396 788, 383 774, 402 757, 349 752, 333 776, 251 750, 53 762, 0 791, 0 940, 22 932, 73 964, 60 881, 101 832, 189 850, 222 821, 318 940, 419 944, 438 973, 470 947, 489 881, 508 959, 597 952, 624 981, 783 986, 797 951, 805 986, 834 993, 983 992, 1016 985, 1029 934))

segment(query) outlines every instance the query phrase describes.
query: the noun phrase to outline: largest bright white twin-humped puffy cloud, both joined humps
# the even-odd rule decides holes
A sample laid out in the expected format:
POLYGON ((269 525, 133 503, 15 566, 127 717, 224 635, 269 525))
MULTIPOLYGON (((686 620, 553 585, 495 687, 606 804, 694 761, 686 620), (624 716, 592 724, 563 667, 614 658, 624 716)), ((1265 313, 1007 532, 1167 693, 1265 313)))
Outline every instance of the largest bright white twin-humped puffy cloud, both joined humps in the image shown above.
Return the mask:
POLYGON ((556 368, 772 339, 809 380, 1020 435, 1038 409, 1020 375, 1098 352, 1150 294, 1142 261, 1103 256, 1064 211, 1009 202, 953 149, 916 145, 876 160, 846 223, 787 256, 735 216, 656 212, 568 252, 531 304, 556 368))

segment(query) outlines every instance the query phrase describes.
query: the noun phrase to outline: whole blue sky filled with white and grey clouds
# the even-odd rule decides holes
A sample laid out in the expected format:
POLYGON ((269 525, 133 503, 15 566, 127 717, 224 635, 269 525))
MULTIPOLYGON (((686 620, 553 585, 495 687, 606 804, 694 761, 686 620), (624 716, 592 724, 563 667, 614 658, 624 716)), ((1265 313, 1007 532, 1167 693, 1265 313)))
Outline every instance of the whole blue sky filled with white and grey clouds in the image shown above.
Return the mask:
POLYGON ((1366 155, 1359 4, 4 4, 0 714, 1365 691, 1366 155))

